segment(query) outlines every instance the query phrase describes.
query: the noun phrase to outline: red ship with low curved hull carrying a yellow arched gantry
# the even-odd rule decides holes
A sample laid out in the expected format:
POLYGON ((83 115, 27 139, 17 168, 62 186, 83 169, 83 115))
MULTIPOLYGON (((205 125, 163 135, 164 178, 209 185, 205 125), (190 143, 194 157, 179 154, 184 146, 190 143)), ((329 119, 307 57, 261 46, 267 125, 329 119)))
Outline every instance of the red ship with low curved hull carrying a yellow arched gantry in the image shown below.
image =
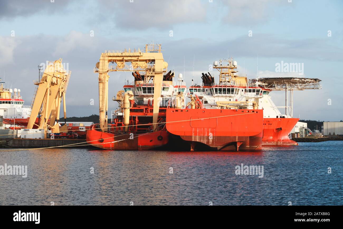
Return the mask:
MULTIPOLYGON (((106 150, 149 150, 169 141, 165 129, 166 109, 171 105, 174 73, 167 73, 161 45, 146 45, 141 50, 105 51, 96 64, 99 73, 99 124, 86 133, 88 144, 106 150), (115 64, 109 66, 109 64, 115 64), (128 65, 132 67, 128 67, 128 65), (124 90, 113 98, 119 108, 107 124, 108 72, 132 72, 134 81, 125 80, 124 90)), ((186 86, 182 86, 186 90, 186 86)))

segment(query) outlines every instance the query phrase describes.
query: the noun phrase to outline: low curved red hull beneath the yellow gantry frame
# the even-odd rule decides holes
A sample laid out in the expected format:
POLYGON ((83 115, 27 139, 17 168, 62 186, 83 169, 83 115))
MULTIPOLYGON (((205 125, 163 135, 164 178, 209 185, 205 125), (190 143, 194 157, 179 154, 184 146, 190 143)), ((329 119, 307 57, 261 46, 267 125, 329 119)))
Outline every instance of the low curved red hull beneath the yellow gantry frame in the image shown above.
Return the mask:
POLYGON ((94 129, 87 130, 87 143, 104 150, 151 150, 168 143, 166 130, 148 133, 108 133, 94 129))

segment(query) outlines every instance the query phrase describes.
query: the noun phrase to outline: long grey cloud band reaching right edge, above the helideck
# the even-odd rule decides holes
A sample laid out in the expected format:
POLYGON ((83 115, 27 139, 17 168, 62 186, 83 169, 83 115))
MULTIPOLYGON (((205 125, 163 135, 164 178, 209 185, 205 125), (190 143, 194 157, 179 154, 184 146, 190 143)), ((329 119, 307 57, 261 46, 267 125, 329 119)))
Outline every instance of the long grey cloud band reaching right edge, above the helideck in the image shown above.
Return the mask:
MULTIPOLYGON (((342 61, 343 49, 330 43, 328 39, 305 38, 287 39, 279 38, 272 34, 253 34, 252 37, 240 36, 235 39, 223 41, 204 40, 201 38, 182 39, 164 43, 164 48, 171 56, 178 56, 180 50, 183 53, 195 54, 207 60, 217 60, 227 58, 229 55, 234 58, 252 57, 256 58, 291 58, 288 62, 299 62, 299 59, 322 60, 322 61, 342 61), (166 47, 177 47, 167 49, 166 47), (206 55, 204 55, 206 53, 206 55)), ((211 63, 207 63, 211 64, 211 63)), ((275 64, 275 63, 274 63, 275 64)), ((274 66, 273 64, 273 66, 274 66)), ((183 59, 182 59, 183 65, 183 59)))

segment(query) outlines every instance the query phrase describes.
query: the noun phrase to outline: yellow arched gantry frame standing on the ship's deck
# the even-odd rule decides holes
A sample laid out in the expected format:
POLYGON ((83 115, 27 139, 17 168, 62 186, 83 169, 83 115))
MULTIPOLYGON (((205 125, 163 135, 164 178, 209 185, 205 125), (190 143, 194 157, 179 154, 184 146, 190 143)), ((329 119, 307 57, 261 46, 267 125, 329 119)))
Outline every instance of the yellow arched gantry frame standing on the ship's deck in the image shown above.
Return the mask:
MULTIPOLYGON (((159 103, 161 100, 161 88, 163 73, 166 73, 168 63, 164 61, 161 53, 161 44, 146 44, 143 50, 110 50, 101 54, 99 62, 94 68, 99 73, 99 124, 100 129, 107 132, 108 111, 108 79, 109 72, 141 72, 145 74, 142 81, 154 81, 153 103, 153 129, 157 129, 159 103), (116 63, 109 66, 109 63, 116 63)), ((140 75, 140 74, 139 74, 140 75)))

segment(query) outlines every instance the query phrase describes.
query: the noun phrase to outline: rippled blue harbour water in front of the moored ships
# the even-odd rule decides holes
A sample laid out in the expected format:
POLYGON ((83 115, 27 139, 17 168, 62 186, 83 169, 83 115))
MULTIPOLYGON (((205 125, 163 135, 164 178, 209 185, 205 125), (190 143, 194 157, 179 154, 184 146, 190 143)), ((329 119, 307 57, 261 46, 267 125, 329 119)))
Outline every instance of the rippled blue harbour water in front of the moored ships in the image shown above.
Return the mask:
POLYGON ((3 164, 28 168, 27 178, 0 176, 0 204, 342 205, 342 148, 328 141, 258 152, 0 152, 3 164), (264 166, 263 178, 236 175, 242 163, 264 166))

